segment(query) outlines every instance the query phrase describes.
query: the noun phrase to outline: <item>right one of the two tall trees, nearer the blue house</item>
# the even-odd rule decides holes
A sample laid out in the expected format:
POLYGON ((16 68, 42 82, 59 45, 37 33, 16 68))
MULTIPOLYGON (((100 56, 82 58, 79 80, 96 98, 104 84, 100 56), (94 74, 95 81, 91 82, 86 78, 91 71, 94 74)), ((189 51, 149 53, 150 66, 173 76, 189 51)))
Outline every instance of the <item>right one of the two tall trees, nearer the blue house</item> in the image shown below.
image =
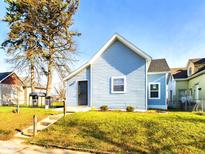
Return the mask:
POLYGON ((70 27, 73 25, 72 16, 79 6, 79 0, 45 0, 37 3, 37 28, 45 47, 43 58, 47 66, 47 96, 50 96, 53 71, 61 73, 60 68, 66 68, 74 60, 73 36, 79 33, 70 30, 70 27))

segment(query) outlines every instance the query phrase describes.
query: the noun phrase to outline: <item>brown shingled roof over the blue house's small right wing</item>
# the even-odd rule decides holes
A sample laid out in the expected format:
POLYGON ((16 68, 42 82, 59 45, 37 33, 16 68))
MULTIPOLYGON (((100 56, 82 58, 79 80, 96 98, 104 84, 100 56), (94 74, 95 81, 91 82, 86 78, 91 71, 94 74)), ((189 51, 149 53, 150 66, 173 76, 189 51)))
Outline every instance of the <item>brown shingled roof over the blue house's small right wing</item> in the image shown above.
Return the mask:
POLYGON ((148 72, 169 72, 170 68, 166 59, 153 59, 148 72))

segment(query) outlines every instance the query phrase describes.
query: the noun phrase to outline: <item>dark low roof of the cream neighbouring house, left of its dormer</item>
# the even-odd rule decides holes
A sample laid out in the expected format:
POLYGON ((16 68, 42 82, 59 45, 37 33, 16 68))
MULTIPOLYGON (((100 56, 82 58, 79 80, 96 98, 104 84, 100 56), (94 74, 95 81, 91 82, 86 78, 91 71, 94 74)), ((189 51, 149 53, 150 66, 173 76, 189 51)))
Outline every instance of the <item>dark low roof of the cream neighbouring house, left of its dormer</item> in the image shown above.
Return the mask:
POLYGON ((174 79, 184 79, 188 77, 186 68, 171 68, 171 73, 174 79))

